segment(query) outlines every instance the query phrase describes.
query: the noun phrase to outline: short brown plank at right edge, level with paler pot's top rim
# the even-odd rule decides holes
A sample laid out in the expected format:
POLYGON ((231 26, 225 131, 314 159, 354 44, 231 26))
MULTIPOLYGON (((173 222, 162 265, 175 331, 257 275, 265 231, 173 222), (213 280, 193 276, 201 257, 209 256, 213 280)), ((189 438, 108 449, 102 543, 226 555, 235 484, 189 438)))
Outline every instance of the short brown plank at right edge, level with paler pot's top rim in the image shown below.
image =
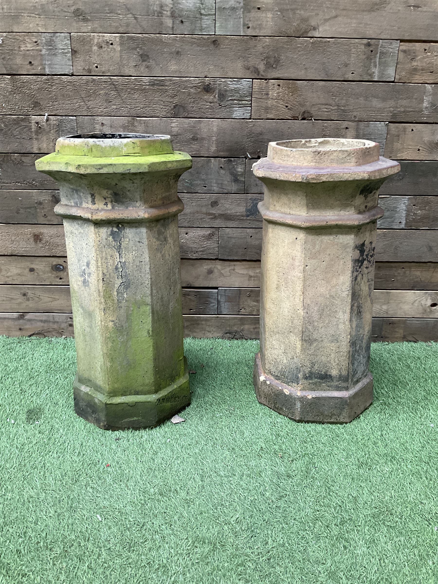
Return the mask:
POLYGON ((438 160, 438 126, 389 124, 385 156, 400 160, 438 160))

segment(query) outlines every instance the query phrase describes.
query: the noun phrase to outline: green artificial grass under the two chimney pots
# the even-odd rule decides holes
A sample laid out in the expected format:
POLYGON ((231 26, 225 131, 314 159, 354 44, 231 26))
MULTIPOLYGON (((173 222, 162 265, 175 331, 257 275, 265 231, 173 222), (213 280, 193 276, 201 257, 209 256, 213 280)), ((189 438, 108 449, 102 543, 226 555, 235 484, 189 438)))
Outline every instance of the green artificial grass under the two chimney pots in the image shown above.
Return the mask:
POLYGON ((0 337, 0 582, 437 582, 438 343, 373 345, 348 425, 259 405, 257 349, 186 339, 186 422, 106 432, 72 339, 0 337))

